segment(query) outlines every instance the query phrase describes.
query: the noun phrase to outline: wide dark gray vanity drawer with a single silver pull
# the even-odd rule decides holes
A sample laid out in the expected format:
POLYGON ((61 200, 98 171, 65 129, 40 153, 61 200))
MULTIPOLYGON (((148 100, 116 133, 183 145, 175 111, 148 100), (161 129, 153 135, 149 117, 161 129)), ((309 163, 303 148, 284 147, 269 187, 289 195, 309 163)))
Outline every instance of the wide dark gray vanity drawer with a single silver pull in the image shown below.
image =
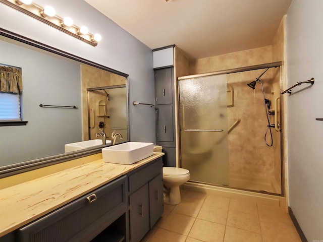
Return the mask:
POLYGON ((123 176, 18 229, 18 241, 89 241, 126 210, 123 176))

